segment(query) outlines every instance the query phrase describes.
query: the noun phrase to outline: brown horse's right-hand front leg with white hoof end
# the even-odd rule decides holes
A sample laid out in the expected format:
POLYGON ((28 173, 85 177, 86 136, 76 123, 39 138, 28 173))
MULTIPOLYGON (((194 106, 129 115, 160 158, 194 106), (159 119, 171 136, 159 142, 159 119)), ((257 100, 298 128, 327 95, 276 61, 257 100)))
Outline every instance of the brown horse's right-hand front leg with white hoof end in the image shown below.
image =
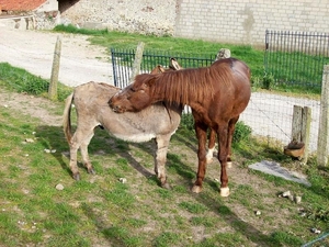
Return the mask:
POLYGON ((218 160, 220 162, 220 195, 228 197, 229 188, 227 186, 228 178, 226 173, 227 156, 228 156, 228 124, 222 123, 217 132, 218 137, 218 160))

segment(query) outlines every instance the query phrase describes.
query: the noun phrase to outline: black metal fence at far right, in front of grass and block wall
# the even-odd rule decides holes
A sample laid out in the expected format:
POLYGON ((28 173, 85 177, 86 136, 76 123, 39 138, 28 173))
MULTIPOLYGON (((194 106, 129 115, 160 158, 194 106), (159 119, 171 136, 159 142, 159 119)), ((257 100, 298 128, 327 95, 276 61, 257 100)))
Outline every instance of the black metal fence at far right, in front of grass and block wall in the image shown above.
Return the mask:
POLYGON ((264 69, 276 83, 320 88, 329 64, 329 34, 265 32, 264 69))

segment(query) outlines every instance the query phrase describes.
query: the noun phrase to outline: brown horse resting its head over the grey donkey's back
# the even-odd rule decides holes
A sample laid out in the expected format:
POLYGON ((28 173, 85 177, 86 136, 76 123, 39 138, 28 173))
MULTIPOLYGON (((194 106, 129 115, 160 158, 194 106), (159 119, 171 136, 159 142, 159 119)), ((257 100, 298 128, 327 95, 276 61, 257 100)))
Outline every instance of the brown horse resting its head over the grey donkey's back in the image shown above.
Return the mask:
POLYGON ((206 131, 211 127, 216 131, 219 145, 220 195, 228 197, 227 157, 235 124, 247 108, 250 96, 249 67, 241 60, 226 58, 206 68, 138 75, 134 83, 112 97, 109 104, 118 113, 138 112, 158 101, 190 105, 198 139, 198 170, 192 191, 202 190, 206 169, 206 131))

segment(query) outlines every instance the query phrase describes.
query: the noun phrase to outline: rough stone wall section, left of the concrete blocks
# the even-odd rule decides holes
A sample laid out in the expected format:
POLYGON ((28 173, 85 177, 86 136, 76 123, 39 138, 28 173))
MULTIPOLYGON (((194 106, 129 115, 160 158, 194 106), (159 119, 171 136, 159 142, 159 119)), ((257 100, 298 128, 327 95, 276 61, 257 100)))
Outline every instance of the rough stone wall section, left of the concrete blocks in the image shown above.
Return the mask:
POLYGON ((63 21, 82 27, 155 35, 174 33, 174 0, 80 0, 65 9, 63 21))

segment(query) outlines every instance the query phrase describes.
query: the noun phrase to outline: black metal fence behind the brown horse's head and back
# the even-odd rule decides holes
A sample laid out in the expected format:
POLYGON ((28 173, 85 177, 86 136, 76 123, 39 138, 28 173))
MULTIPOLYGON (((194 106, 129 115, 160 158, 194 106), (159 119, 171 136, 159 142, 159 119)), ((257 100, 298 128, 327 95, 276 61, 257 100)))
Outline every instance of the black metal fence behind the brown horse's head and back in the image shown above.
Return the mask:
MULTIPOLYGON (((115 87, 124 88, 131 82, 129 77, 132 75, 135 52, 136 50, 134 49, 111 48, 113 78, 115 87)), ((217 54, 209 56, 189 56, 188 54, 170 54, 163 50, 144 50, 143 61, 140 65, 140 72, 150 72, 158 65, 168 67, 171 57, 177 58, 179 64, 183 68, 206 67, 211 66, 211 64, 216 59, 216 55, 217 54)))

